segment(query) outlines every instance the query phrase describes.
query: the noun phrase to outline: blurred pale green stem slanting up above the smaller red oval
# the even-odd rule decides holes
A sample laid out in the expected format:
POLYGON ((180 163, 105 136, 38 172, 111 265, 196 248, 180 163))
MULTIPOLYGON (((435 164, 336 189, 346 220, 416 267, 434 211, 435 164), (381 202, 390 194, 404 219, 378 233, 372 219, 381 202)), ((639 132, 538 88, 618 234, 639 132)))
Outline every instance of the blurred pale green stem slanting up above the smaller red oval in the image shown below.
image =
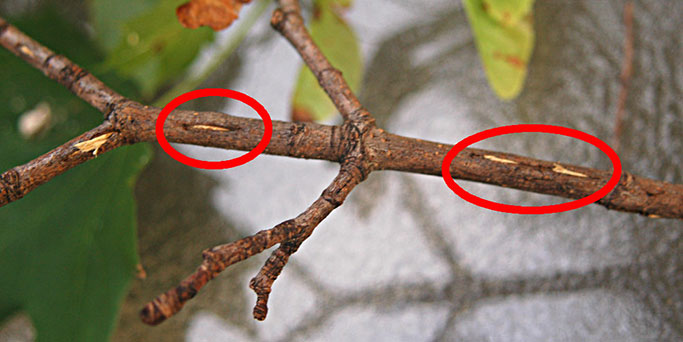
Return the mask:
POLYGON ((230 37, 230 41, 225 44, 220 51, 216 51, 211 57, 205 67, 197 74, 187 74, 185 79, 178 82, 169 91, 163 93, 156 101, 154 101, 154 106, 161 107, 165 106, 167 103, 171 102, 180 94, 184 94, 188 91, 194 90, 199 87, 199 85, 204 82, 209 75, 214 73, 216 69, 227 59, 237 47, 242 43, 246 37, 249 30, 256 24, 258 18, 263 15, 270 4, 270 0, 259 0, 256 2, 256 8, 249 12, 249 14, 242 20, 239 20, 239 25, 235 28, 235 33, 230 37))

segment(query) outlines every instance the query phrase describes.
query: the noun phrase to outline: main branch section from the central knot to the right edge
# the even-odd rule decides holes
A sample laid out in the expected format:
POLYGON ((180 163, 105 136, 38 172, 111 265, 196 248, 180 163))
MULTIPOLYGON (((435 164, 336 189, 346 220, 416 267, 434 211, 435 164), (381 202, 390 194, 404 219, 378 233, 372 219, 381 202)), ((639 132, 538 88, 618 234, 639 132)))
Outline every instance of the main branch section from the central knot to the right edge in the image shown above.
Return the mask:
MULTIPOLYGON (((381 133, 367 142, 379 170, 441 176, 441 163, 452 145, 381 133)), ((586 197, 604 186, 612 173, 509 153, 467 148, 454 158, 451 176, 480 183, 565 198, 586 197)), ((671 184, 622 172, 621 181, 598 204, 649 217, 683 219, 683 184, 671 184)))

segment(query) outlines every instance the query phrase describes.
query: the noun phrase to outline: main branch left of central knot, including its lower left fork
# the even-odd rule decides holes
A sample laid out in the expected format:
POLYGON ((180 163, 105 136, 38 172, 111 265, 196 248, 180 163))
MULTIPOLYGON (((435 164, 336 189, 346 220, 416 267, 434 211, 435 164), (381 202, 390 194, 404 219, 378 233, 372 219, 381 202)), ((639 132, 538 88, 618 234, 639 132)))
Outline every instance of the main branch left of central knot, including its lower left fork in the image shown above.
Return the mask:
MULTIPOLYGON (((97 155, 126 144, 155 141, 154 127, 160 109, 133 101, 120 104, 100 126, 0 174, 0 207, 97 155), (101 145, 96 149, 79 145, 90 140, 101 145)), ((343 152, 339 130, 315 123, 274 121, 273 136, 265 153, 338 162, 343 152)), ((164 132, 172 142, 246 151, 260 141, 263 123, 215 112, 174 111, 166 120, 164 132)))

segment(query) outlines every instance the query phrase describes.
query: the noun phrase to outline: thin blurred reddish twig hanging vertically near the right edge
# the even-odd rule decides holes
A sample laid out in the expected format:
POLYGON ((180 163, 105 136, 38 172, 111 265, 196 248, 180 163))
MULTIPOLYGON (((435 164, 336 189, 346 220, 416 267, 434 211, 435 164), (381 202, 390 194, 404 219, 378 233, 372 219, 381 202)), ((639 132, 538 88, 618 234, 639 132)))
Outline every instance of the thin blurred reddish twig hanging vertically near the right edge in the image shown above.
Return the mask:
POLYGON ((614 139, 612 145, 615 151, 619 151, 621 133, 624 129, 624 119, 626 117, 626 99, 628 88, 631 84, 631 74, 633 73, 633 1, 628 1, 624 5, 624 61, 621 65, 621 77, 619 89, 619 102, 617 102, 617 114, 614 120, 614 139))

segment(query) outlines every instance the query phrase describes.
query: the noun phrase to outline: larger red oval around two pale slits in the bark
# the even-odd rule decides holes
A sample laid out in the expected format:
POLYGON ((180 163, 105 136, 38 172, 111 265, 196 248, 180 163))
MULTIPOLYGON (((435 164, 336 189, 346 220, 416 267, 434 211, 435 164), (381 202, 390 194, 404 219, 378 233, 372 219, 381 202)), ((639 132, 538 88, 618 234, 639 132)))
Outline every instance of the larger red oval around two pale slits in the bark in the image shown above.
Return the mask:
POLYGON ((607 196, 607 194, 614 189, 614 187, 617 186, 619 183, 619 179, 621 178, 621 160, 619 160, 619 156, 617 155, 614 150, 607 145, 604 141, 588 134, 585 132, 581 132, 575 129, 567 128, 567 127, 561 127, 561 126, 553 126, 553 125, 540 125, 540 124, 527 124, 527 125, 510 125, 510 126, 501 126, 501 127, 496 127, 496 128, 491 128, 473 135, 470 135, 469 137, 461 140, 453 148, 448 151, 446 154, 446 157, 443 160, 443 163, 441 164, 441 175, 443 176, 444 181, 446 181, 446 185, 448 185, 453 192, 455 192, 456 195, 460 196, 462 199, 465 201, 468 201, 472 204, 478 205, 480 207, 490 209, 490 210, 495 210, 495 211, 500 211, 504 213, 511 213, 511 214, 550 214, 550 213, 559 213, 562 211, 569 211, 569 210, 574 210, 578 209, 580 207, 583 207, 585 205, 589 205, 591 203, 594 203, 598 201, 599 199, 607 196), (482 141, 484 139, 496 137, 499 135, 505 135, 505 134, 511 134, 511 133, 523 133, 523 132, 538 132, 538 133, 550 133, 550 134, 559 134, 559 135, 564 135, 572 138, 576 138, 582 141, 585 141, 605 153, 610 161, 612 162, 612 166, 614 168, 614 171, 612 172, 612 177, 609 179, 607 184, 605 184, 600 190, 596 191, 595 193, 588 195, 584 198, 580 198, 575 201, 567 202, 567 203, 561 203, 561 204, 553 204, 553 205, 542 205, 542 206, 521 206, 521 205, 510 205, 510 204, 502 204, 502 203, 497 203, 493 201, 488 201, 485 200, 481 197, 477 197, 475 195, 470 194, 467 192, 465 189, 460 187, 458 184, 455 183, 455 180, 453 180, 453 177, 451 177, 450 173, 450 165, 455 156, 460 153, 460 151, 464 150, 467 146, 470 146, 476 142, 482 141))

